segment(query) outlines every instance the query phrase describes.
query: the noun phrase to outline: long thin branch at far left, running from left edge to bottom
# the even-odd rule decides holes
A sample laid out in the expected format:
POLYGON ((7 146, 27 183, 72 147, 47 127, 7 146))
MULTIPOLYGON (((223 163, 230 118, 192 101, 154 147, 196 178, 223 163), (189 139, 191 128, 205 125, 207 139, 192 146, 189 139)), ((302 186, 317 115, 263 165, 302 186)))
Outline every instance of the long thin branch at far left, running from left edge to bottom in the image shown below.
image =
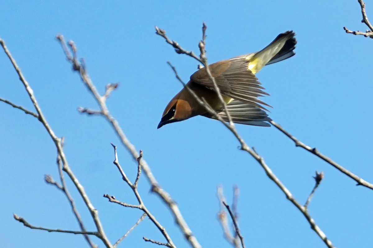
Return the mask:
POLYGON ((97 228, 97 232, 95 232, 95 233, 97 233, 97 237, 100 238, 103 241, 104 245, 107 248, 111 248, 112 244, 110 243, 109 239, 107 238, 107 236, 106 236, 106 234, 104 232, 104 229, 103 229, 103 226, 101 224, 101 221, 98 218, 98 211, 97 211, 97 209, 95 209, 95 207, 91 203, 90 199, 88 198, 87 193, 85 193, 85 190, 84 190, 83 186, 79 183, 78 178, 75 177, 75 175, 73 174, 72 170, 69 167, 67 158, 65 156, 65 152, 63 151, 63 148, 62 148, 61 139, 58 138, 55 135, 54 131, 49 126, 49 124, 47 122, 47 119, 44 117, 43 112, 41 111, 41 108, 40 108, 40 106, 39 106, 39 104, 38 104, 38 102, 37 102, 37 100, 35 98, 34 91, 30 87, 29 83, 26 81, 26 78, 23 76, 21 69, 18 67, 15 59, 10 54, 10 52, 7 49, 4 41, 1 40, 1 39, 0 39, 0 45, 3 47, 4 52, 6 53, 6 55, 8 56, 8 58, 10 60, 10 62, 13 65, 14 69, 16 70, 16 72, 17 72, 17 74, 19 76, 19 80, 21 81, 21 83, 25 87, 25 90, 26 90, 26 92, 27 92, 27 94, 28 94, 28 96, 29 96, 32 104, 34 105, 36 112, 37 112, 38 120, 43 124, 44 128, 46 129, 46 131, 48 132, 49 136, 53 140, 54 145, 56 146, 56 149, 57 149, 57 154, 60 156, 60 158, 62 160, 62 164, 63 164, 62 169, 63 169, 63 171, 65 171, 68 174, 68 176, 72 180, 73 184, 75 185, 76 189, 78 190, 80 196, 82 197, 85 205, 87 206, 88 210, 90 211, 91 216, 93 218, 93 221, 95 223, 95 226, 97 228))

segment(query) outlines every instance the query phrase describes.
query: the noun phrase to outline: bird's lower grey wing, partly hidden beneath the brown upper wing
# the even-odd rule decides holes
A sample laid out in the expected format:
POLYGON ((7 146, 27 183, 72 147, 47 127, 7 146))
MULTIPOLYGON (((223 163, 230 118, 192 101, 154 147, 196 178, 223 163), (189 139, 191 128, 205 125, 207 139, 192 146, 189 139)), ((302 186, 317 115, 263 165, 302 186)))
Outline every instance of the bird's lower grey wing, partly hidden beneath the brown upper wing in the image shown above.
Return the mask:
MULTIPOLYGON (((270 126, 269 123, 266 121, 272 120, 268 117, 267 113, 256 107, 252 104, 244 103, 239 100, 233 100, 229 104, 227 104, 227 110, 229 115, 231 115, 232 121, 234 123, 240 123, 245 125, 253 125, 253 126, 270 126)), ((226 116, 225 110, 218 109, 216 113, 223 118, 223 120, 228 122, 228 117, 226 116)), ((216 119, 214 116, 210 114, 205 114, 204 116, 216 119)))

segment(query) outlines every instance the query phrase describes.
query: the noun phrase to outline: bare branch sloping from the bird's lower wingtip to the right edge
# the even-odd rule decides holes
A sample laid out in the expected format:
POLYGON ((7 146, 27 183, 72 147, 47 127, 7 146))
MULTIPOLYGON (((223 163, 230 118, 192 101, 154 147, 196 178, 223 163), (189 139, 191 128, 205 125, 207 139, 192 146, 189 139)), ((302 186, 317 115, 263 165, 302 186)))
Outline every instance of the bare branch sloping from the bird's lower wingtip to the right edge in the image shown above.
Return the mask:
POLYGON ((369 189, 373 189, 373 184, 365 181, 363 178, 358 177, 357 175, 355 175, 351 171, 346 170, 344 167, 342 167, 341 165, 337 164, 336 162, 334 162, 329 157, 326 157, 324 154, 322 154, 321 152, 319 152, 319 150, 317 150, 316 148, 311 148, 310 146, 308 146, 308 145, 304 144, 303 142, 299 141, 297 138, 295 138, 293 135, 291 135, 289 132, 287 132, 285 129, 283 129, 281 125, 277 124, 273 120, 271 120, 270 123, 273 126, 275 126, 278 130, 280 130, 283 134, 285 134, 286 136, 288 136, 292 141, 294 141, 295 146, 299 146, 299 147, 305 149, 306 151, 309 151, 312 154, 316 155, 317 157, 321 158, 325 162, 329 163, 334 168, 336 168, 337 170, 341 171, 343 174, 345 174, 348 177, 350 177, 353 180, 355 180, 357 182, 357 185, 362 185, 362 186, 367 187, 369 189))

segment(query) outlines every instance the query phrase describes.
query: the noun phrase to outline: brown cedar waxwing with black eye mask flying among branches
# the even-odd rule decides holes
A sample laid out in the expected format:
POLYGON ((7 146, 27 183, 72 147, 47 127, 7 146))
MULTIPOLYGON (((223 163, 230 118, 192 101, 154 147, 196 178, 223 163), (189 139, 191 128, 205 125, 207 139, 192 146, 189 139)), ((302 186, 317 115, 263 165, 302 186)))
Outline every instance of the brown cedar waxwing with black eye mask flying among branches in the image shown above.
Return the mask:
MULTIPOLYGON (((264 65, 273 64, 295 55, 293 50, 297 41, 294 35, 293 31, 280 33, 274 41, 259 52, 241 55, 209 65, 211 74, 215 78, 217 87, 220 89, 234 123, 270 126, 266 121, 271 119, 264 111, 267 109, 260 104, 269 105, 258 99, 263 94, 269 94, 263 91, 264 88, 260 86, 255 74, 264 65)), ((216 110, 219 116, 228 121, 222 103, 214 91, 213 82, 207 75, 206 68, 201 68, 191 75, 190 81, 186 85, 198 97, 203 97, 216 110)), ((214 119, 214 116, 211 116, 184 87, 167 105, 158 128, 196 115, 214 119)))

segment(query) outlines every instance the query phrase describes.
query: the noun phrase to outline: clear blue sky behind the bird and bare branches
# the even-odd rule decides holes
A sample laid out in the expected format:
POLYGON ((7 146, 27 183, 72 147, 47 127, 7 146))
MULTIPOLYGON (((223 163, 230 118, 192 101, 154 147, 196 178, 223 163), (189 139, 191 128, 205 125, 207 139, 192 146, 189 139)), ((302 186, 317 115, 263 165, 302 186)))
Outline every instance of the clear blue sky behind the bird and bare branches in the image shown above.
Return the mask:
MULTIPOLYGON (((373 18, 373 2, 367 1, 373 18)), ((207 24, 210 62, 258 51, 279 33, 297 33, 294 57, 263 68, 259 81, 271 95, 270 117, 301 141, 372 182, 372 40, 346 34, 365 30, 357 1, 3 1, 0 37, 21 67, 48 122, 65 137, 70 167, 98 209, 112 242, 141 212, 108 203, 111 194, 135 203, 112 164, 110 142, 120 145, 102 118, 79 114, 79 106, 97 106, 78 75, 71 71, 54 37, 63 34, 78 46, 88 73, 103 93, 108 83, 119 88, 107 100, 130 141, 161 186, 178 203, 203 247, 229 247, 216 218, 216 187, 228 199, 237 185, 239 225, 247 247, 325 247, 322 240, 256 161, 237 149, 238 142, 221 123, 205 117, 172 123, 157 130, 164 107, 181 89, 166 61, 187 81, 197 62, 176 54, 155 35, 157 25, 185 49, 198 51, 202 22, 207 24)), ((25 90, 0 52, 0 97, 32 109, 25 90)), ((0 103, 0 247, 85 247, 81 236, 30 230, 33 225, 76 230, 65 197, 43 181, 57 180, 56 151, 43 126, 33 117, 0 103)), ((275 128, 237 125, 294 196, 304 203, 315 171, 325 179, 310 203, 316 223, 336 247, 369 247, 372 242, 372 191, 330 165, 295 148, 275 128)), ((119 159, 133 178, 136 164, 119 146, 119 159)), ((69 183, 90 231, 90 215, 69 183)), ((144 177, 140 191, 150 211, 178 247, 188 247, 170 212, 144 177)), ((230 201, 230 200, 229 200, 230 201)), ((164 242, 144 220, 121 247, 155 247, 142 236, 164 242)), ((102 244, 94 239, 97 244, 102 244)))

